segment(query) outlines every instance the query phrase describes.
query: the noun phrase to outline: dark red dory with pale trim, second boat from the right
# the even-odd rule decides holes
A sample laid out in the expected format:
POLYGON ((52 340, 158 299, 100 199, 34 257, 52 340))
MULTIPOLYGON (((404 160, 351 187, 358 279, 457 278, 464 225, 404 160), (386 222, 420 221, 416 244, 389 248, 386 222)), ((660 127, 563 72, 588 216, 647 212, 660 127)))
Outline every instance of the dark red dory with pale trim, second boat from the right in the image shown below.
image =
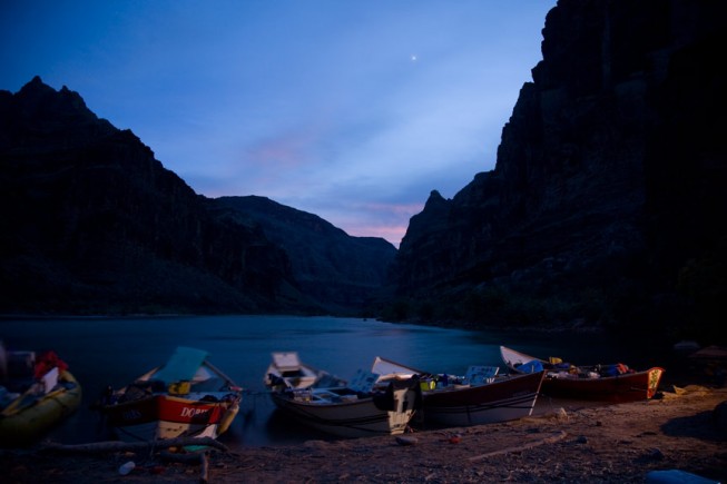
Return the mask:
POLYGON ((468 426, 522 418, 532 414, 544 372, 497 376, 498 367, 472 366, 464 378, 433 375, 376 356, 372 373, 380 381, 419 378, 425 424, 468 426), (490 369, 490 372, 488 372, 490 369))

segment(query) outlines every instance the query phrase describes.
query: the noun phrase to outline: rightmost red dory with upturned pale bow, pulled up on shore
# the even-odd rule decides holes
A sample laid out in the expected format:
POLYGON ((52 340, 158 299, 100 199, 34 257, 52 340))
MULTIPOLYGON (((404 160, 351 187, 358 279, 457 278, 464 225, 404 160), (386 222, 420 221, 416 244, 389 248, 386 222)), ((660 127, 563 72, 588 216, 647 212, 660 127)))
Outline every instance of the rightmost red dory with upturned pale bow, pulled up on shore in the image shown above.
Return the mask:
POLYGON ((652 367, 641 372, 623 365, 593 365, 559 368, 558 364, 500 346, 504 364, 512 372, 525 374, 532 368, 548 373, 542 383, 543 396, 600 402, 638 402, 651 398, 658 387, 664 368, 652 367), (606 373, 606 369, 609 373, 606 373), (623 373, 618 373, 623 371, 623 373))

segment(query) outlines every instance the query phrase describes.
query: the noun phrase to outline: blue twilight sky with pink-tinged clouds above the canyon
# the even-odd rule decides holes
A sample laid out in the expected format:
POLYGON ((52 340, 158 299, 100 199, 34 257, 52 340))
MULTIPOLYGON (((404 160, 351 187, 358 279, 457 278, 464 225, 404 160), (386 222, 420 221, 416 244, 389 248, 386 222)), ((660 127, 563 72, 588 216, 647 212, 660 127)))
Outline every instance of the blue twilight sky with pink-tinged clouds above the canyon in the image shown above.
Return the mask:
POLYGON ((494 168, 556 0, 4 0, 0 89, 67 86, 208 197, 399 246, 494 168))

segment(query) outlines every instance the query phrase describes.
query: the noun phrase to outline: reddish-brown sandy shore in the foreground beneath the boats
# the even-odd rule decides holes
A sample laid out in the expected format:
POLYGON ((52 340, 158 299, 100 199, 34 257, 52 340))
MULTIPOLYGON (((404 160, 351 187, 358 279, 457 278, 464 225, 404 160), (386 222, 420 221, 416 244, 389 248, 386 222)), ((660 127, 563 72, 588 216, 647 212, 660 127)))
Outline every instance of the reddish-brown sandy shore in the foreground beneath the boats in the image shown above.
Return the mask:
POLYGON ((207 451, 206 463, 158 452, 2 451, 7 483, 644 483, 681 470, 727 482, 727 388, 687 386, 609 406, 553 406, 502 424, 298 446, 207 451), (724 425, 724 423, 723 423, 724 425), (136 468, 119 475, 121 464, 136 468), (652 474, 654 476, 654 474, 652 474))

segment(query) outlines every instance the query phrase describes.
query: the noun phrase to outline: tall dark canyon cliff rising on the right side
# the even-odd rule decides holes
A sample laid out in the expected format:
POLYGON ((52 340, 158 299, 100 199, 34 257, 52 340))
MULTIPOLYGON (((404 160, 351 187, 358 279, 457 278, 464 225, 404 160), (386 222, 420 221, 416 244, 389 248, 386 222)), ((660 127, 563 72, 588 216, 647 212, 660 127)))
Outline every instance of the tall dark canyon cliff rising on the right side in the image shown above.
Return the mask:
POLYGON ((726 11, 560 0, 494 170, 411 219, 389 316, 719 333, 726 11))

